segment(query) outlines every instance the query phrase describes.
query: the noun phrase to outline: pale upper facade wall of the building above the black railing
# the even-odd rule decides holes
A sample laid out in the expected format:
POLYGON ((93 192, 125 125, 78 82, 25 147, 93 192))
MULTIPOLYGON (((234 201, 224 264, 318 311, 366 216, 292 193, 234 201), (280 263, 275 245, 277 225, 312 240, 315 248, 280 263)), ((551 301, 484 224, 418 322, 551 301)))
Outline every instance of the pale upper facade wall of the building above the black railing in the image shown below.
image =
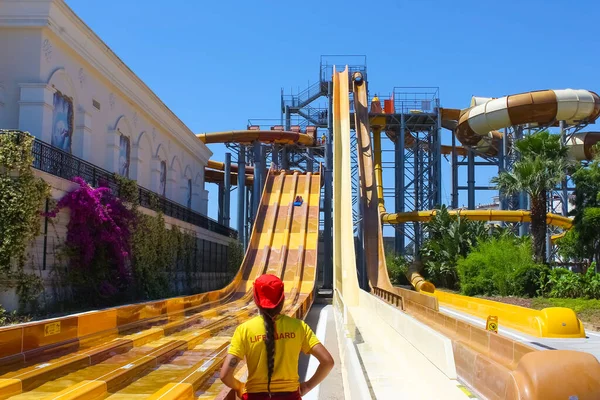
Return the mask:
POLYGON ((129 177, 155 192, 166 164, 167 198, 207 214, 210 150, 62 0, 0 2, 0 127, 51 143, 54 95, 72 100, 70 151, 112 172, 121 136, 129 177))

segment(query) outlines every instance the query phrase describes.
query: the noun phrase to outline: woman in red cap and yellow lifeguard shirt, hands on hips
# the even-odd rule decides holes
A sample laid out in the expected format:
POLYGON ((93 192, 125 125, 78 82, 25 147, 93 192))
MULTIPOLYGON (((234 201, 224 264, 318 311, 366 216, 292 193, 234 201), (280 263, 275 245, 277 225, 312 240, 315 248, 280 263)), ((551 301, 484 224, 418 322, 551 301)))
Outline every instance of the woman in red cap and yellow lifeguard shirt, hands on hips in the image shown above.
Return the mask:
POLYGON ((260 315, 237 327, 229 354, 221 368, 221 380, 243 400, 300 400, 333 368, 333 358, 304 321, 281 314, 285 298, 283 282, 274 275, 254 281, 254 302, 260 315), (315 356, 319 367, 306 382, 299 383, 300 351, 315 356), (248 381, 233 372, 246 358, 248 381))

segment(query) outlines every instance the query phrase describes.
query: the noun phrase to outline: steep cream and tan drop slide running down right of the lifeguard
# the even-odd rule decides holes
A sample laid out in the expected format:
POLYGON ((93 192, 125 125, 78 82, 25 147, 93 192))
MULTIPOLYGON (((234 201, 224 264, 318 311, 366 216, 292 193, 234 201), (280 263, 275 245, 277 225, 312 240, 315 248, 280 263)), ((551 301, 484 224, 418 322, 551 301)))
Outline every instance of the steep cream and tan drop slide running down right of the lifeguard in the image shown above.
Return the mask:
MULTIPOLYGON (((357 146, 359 147, 360 195, 363 207, 365 253, 367 273, 371 292, 358 288, 356 264, 350 249, 353 248, 351 233, 352 220, 350 186, 349 124, 344 122, 347 115, 343 106, 347 98, 347 72, 334 74, 334 276, 336 277, 336 307, 343 312, 347 324, 346 333, 360 331, 354 342, 359 347, 361 341, 376 347, 379 342, 396 343, 403 341, 417 349, 419 354, 408 361, 410 370, 402 369, 398 361, 395 378, 401 381, 412 370, 421 367, 420 360, 425 357, 438 371, 450 379, 457 377, 468 384, 482 398, 488 399, 596 399, 600 397, 600 363, 594 356, 578 351, 539 351, 504 336, 490 334, 481 327, 458 320, 439 311, 438 299, 424 293, 393 287, 387 278, 385 258, 381 248, 383 237, 378 214, 378 200, 374 168, 372 168, 372 143, 369 136, 369 120, 366 112, 366 88, 362 79, 355 75, 355 107, 360 111, 356 117, 357 146), (358 78, 358 79, 357 79, 358 78), (339 86, 336 88, 336 85, 339 86), (335 100, 335 97, 341 97, 335 100), (356 103, 359 103, 358 105, 356 103), (336 106, 338 109, 336 110, 336 106), (341 120, 341 121, 338 121, 341 120), (373 215, 375 217, 373 218, 373 215), (371 218, 374 223, 367 219, 371 218), (375 237, 377 240, 372 240, 375 237), (381 304, 387 303, 387 304, 381 304), (368 315, 365 323, 364 315, 368 315), (425 326, 425 328, 423 327, 425 326), (388 329, 392 328, 392 329, 388 329), (367 336, 369 330, 376 332, 367 336), (364 332, 363 332, 364 330, 364 332), (365 333, 366 332, 366 333, 365 333), (561 385, 556 385, 560 381, 561 385)), ((565 320, 571 324, 572 320, 565 320)), ((350 334, 351 336, 351 334, 350 334)), ((377 365, 369 365, 366 370, 373 387, 379 383, 381 369, 387 367, 387 358, 401 357, 392 354, 390 345, 380 354, 377 365), (369 367, 372 370, 369 370, 369 367)), ((405 349, 405 352, 408 352, 405 349)), ((348 350, 350 352, 350 350, 348 350)), ((364 357, 361 353, 363 360, 364 357)), ((346 358, 349 358, 345 356, 346 358)), ((433 375, 411 381, 420 392, 414 396, 428 398, 432 387, 441 388, 447 381, 431 379, 433 375), (421 383, 422 382, 422 383, 421 383)), ((360 377, 350 376, 359 380, 360 377)), ((386 382, 387 383, 387 382, 386 382)), ((390 383, 390 386, 393 386, 390 383)), ((405 387, 402 388, 406 390, 405 387)), ((445 388, 443 395, 433 394, 433 398, 454 398, 453 392, 445 388)), ((388 397, 381 397, 388 398, 388 397)), ((398 393, 394 397, 398 398, 398 393)), ((409 397, 407 397, 409 398, 409 397)))

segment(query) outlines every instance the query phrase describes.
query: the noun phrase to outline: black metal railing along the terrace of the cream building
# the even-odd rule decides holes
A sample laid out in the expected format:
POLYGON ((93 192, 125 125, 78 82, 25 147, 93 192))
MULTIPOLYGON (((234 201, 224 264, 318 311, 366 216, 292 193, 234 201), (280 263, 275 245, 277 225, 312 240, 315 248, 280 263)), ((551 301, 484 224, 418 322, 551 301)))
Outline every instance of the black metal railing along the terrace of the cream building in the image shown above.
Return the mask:
MULTIPOLYGON (((0 133, 2 131, 0 130, 0 133)), ((21 132, 21 135, 27 133, 21 132)), ((116 196, 120 195, 120 185, 115 174, 99 168, 87 161, 64 152, 46 142, 34 138, 32 153, 33 168, 64 179, 79 176, 90 185, 97 187, 101 182, 110 187, 116 196)), ((142 207, 154 208, 164 215, 188 222, 219 235, 237 238, 237 231, 219 224, 212 218, 195 212, 179 203, 166 199, 157 193, 138 185, 138 199, 142 207)))

